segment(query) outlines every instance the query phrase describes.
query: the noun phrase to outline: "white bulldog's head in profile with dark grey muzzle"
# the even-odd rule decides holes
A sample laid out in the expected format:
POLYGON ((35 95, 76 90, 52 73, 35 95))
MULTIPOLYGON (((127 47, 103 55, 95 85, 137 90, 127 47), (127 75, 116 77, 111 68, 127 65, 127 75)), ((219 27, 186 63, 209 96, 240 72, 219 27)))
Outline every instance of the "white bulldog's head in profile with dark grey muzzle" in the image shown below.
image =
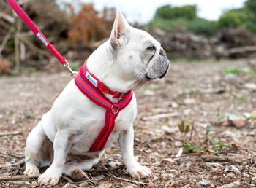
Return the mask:
POLYGON ((116 12, 110 42, 122 78, 148 81, 165 77, 169 60, 161 44, 146 31, 130 26, 120 11, 116 12))

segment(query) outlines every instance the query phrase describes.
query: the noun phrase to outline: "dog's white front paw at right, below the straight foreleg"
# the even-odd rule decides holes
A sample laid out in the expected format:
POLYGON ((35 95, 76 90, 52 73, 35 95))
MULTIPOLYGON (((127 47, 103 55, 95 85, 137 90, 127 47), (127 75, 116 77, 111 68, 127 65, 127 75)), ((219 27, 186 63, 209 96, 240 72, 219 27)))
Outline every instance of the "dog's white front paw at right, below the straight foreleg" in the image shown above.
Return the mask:
POLYGON ((129 168, 127 168, 127 170, 133 178, 137 178, 137 179, 152 176, 151 170, 146 166, 140 165, 138 162, 135 163, 134 165, 130 165, 129 168))

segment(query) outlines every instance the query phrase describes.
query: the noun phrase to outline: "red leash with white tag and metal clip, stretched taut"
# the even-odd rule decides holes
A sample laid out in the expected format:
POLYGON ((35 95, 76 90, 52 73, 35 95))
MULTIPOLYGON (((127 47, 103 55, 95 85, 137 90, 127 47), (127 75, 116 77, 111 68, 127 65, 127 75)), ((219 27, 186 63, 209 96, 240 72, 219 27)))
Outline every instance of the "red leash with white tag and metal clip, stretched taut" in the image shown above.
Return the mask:
POLYGON ((72 69, 69 66, 69 63, 67 62, 66 58, 64 58, 56 49, 53 47, 52 44, 48 41, 48 39, 45 37, 44 34, 42 34, 42 31, 37 28, 37 26, 33 23, 33 21, 29 18, 29 16, 26 14, 26 12, 20 7, 20 5, 15 0, 7 0, 8 4, 10 4, 10 7, 16 12, 16 14, 20 17, 20 19, 23 21, 23 23, 26 24, 26 26, 34 33, 35 36, 37 36, 40 41, 45 44, 45 46, 50 50, 50 52, 59 60, 59 62, 64 66, 67 67, 72 75, 77 74, 77 72, 72 71, 72 69))

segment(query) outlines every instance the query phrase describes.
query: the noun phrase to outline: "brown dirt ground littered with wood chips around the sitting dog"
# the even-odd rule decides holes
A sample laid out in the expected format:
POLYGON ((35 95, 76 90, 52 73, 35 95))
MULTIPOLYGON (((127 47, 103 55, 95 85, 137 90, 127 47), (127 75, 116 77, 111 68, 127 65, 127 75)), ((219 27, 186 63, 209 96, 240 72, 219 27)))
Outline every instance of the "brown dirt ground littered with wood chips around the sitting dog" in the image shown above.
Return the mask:
MULTIPOLYGON (((136 92, 135 155, 153 176, 132 179, 115 144, 86 172, 93 182, 62 177, 56 187, 256 187, 256 74, 248 70, 245 60, 173 63, 165 79, 136 92), (207 125, 215 131, 206 134, 207 125)), ((0 187, 39 187, 19 176, 26 136, 70 79, 67 72, 1 77, 0 187)))

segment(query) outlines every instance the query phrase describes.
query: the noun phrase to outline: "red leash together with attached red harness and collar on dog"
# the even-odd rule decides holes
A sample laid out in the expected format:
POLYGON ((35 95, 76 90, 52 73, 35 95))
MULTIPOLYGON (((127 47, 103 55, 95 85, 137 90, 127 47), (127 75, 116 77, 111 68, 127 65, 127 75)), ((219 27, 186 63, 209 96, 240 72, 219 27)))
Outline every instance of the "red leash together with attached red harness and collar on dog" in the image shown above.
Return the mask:
MULTIPOLYGON (((48 39, 44 36, 44 34, 42 34, 42 31, 40 31, 29 16, 26 15, 26 12, 24 12, 17 1, 7 0, 7 2, 21 18, 23 23, 25 23, 26 26, 28 26, 28 28, 38 37, 38 39, 40 39, 41 42, 48 47, 48 50, 50 50, 50 52, 59 60, 59 62, 67 67, 72 75, 75 75, 76 72, 72 71, 67 60, 59 54, 52 44, 50 44, 48 39)), ((132 91, 127 93, 113 92, 89 72, 86 67, 86 63, 84 63, 84 65, 80 68, 79 73, 75 77, 75 85, 77 85, 80 91, 91 99, 91 101, 106 109, 105 125, 89 149, 89 152, 101 151, 104 149, 108 141, 108 137, 115 126, 115 120, 119 111, 124 109, 125 106, 127 106, 132 100, 132 91), (118 103, 113 103, 103 93, 110 94, 113 96, 113 98, 120 98, 120 100, 118 103)))

